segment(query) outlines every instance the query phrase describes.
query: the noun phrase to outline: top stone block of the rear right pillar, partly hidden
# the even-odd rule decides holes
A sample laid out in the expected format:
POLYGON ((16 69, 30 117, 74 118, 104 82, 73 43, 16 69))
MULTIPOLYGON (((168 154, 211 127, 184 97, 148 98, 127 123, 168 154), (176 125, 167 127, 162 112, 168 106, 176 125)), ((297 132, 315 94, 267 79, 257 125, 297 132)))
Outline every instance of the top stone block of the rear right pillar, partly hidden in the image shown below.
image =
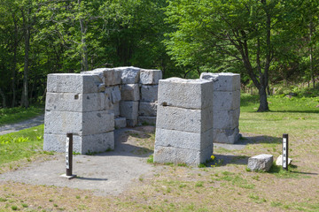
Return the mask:
POLYGON ((214 91, 240 90, 240 74, 231 72, 202 72, 200 79, 214 80, 214 91))

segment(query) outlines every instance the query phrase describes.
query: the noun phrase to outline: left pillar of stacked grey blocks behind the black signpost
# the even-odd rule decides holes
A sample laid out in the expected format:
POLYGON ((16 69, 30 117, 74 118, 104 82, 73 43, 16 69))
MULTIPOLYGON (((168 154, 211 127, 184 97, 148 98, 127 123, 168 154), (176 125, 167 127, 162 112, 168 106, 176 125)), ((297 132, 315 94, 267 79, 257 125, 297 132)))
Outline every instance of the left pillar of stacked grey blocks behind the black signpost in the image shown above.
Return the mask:
POLYGON ((64 152, 66 133, 74 133, 75 152, 113 149, 114 116, 105 108, 104 91, 94 74, 49 74, 43 149, 64 152))

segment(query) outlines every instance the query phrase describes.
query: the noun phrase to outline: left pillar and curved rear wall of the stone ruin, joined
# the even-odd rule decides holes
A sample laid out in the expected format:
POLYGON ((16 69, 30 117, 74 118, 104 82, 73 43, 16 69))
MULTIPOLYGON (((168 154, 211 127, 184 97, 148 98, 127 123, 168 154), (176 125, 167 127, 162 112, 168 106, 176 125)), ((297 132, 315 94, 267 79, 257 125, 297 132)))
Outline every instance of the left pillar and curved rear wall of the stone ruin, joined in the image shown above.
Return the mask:
POLYGON ((49 74, 43 149, 64 152, 74 133, 74 152, 103 152, 114 148, 114 128, 155 125, 161 78, 136 67, 49 74))

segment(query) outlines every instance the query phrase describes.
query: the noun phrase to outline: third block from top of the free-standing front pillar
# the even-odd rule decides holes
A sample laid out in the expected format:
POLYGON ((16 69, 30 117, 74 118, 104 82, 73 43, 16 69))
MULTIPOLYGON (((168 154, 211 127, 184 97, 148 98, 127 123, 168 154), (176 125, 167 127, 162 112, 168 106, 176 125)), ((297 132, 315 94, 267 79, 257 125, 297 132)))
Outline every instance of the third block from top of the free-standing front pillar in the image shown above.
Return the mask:
POLYGON ((156 128, 155 145, 199 151, 213 146, 213 129, 205 133, 190 133, 156 128))

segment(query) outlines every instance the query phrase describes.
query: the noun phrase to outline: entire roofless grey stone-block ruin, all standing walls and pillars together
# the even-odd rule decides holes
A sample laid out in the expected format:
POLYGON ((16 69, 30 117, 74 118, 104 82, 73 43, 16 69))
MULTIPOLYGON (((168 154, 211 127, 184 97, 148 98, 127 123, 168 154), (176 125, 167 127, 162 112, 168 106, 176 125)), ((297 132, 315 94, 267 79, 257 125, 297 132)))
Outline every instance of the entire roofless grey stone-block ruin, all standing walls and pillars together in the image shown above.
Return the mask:
POLYGON ((49 74, 43 149, 64 152, 74 133, 75 152, 103 152, 114 148, 115 128, 156 123, 154 162, 197 165, 214 142, 238 140, 239 74, 161 78, 136 67, 49 74))

